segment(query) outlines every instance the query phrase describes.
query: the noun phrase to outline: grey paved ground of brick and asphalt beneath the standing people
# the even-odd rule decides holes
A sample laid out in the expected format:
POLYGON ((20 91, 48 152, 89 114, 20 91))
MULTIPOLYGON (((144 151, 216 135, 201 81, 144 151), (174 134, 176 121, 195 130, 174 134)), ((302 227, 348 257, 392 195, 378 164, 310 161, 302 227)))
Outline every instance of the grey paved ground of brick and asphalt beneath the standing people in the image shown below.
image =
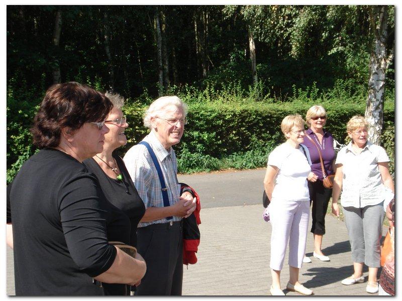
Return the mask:
MULTIPOLYGON (((260 204, 265 170, 179 175, 180 182, 194 187, 202 199, 201 243, 198 262, 184 267, 183 295, 269 295, 271 225, 262 219, 260 204)), ((300 269, 300 281, 316 295, 370 295, 366 282, 345 286, 340 281, 352 274, 350 244, 344 222, 326 219, 323 251, 330 262, 312 258, 300 269)), ((384 229, 385 232, 385 229, 384 229)), ((313 237, 307 254, 312 256, 313 237)), ((287 258, 287 255, 286 255, 287 258)), ((287 259, 285 260, 287 264, 287 259)), ((289 276, 285 265, 281 285, 289 276)), ((7 250, 7 294, 14 292, 13 253, 7 250)), ((287 295, 296 295, 286 291, 287 295)))

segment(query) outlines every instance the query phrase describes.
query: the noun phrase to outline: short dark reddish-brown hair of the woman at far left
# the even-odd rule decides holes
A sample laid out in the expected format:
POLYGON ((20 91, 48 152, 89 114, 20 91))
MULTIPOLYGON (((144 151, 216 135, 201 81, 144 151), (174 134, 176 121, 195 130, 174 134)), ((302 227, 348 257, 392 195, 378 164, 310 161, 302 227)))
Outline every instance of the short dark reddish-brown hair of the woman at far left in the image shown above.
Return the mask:
POLYGON ((72 132, 85 122, 105 120, 113 108, 105 94, 76 82, 55 84, 47 91, 31 128, 33 143, 39 148, 60 144, 61 129, 72 132))

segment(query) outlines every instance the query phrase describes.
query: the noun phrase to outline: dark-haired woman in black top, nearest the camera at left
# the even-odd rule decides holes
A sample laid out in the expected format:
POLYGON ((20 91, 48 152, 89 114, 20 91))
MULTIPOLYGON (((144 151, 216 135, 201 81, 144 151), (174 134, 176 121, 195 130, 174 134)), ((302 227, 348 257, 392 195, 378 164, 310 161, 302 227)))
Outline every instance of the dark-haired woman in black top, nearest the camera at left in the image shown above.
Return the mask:
POLYGON ((146 265, 108 243, 128 224, 106 201, 84 159, 103 150, 112 103, 75 82, 50 87, 35 116, 39 153, 7 187, 8 244, 17 295, 102 295, 92 283, 138 284, 146 265))

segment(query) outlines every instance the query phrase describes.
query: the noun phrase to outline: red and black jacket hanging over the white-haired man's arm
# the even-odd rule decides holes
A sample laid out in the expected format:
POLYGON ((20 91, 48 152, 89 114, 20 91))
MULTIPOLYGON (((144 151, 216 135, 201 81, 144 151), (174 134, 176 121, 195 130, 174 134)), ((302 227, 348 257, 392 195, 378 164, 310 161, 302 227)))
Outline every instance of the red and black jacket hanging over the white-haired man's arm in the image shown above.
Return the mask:
POLYGON ((183 264, 194 264, 197 262, 195 253, 198 251, 200 233, 198 225, 201 223, 199 219, 199 211, 201 210, 201 204, 199 202, 198 194, 184 183, 180 183, 181 191, 184 188, 188 191, 191 190, 192 195, 196 199, 196 207, 193 213, 187 218, 183 219, 183 264))

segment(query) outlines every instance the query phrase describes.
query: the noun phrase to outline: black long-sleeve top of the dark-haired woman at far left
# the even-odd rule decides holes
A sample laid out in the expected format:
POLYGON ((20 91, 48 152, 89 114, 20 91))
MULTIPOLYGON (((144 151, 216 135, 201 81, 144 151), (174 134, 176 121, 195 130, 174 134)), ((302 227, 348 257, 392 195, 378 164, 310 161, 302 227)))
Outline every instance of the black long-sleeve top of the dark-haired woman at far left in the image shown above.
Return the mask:
POLYGON ((7 188, 7 223, 16 295, 104 294, 91 277, 113 264, 108 228, 125 221, 83 164, 56 149, 32 156, 7 188))

